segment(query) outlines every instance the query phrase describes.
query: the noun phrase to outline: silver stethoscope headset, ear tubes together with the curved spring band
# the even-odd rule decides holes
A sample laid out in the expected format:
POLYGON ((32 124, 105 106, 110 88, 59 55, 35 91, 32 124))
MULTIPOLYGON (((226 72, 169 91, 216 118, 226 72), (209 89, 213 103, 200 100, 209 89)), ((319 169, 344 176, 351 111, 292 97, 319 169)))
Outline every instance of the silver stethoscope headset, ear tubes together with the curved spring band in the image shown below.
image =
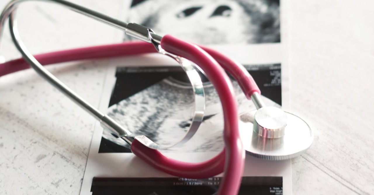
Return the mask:
MULTIPOLYGON (((108 16, 102 15, 98 12, 94 12, 92 10, 86 9, 81 6, 77 6, 67 1, 53 0, 53 2, 55 1, 58 1, 58 2, 61 1, 64 4, 70 5, 69 7, 73 7, 74 8, 73 10, 79 10, 80 13, 91 16, 92 18, 95 18, 95 19, 99 18, 100 21, 103 21, 104 23, 107 23, 107 24, 111 24, 110 21, 106 21, 107 18, 105 17, 108 17, 108 16), (94 14, 92 14, 91 12, 94 14), (96 17, 96 15, 100 17, 96 17), (102 17, 102 16, 105 16, 105 17, 102 17)), ((3 20, 4 17, 8 16, 6 15, 7 10, 11 10, 11 12, 9 13, 10 34, 12 36, 13 43, 15 44, 19 52, 22 54, 25 62, 27 62, 28 65, 30 65, 40 76, 42 76, 42 78, 44 78, 46 81, 52 84, 55 88, 57 88, 60 92, 62 92, 72 101, 74 101, 74 103, 76 103, 78 106, 80 106, 81 108, 86 110, 89 114, 91 114, 93 117, 95 117, 97 120, 99 120, 101 125, 104 128, 110 130, 112 134, 116 135, 117 137, 127 136, 127 137, 139 138, 143 141, 142 143, 144 145, 146 145, 147 147, 153 148, 153 149, 166 149, 166 148, 174 147, 176 145, 181 145, 187 142, 194 135, 194 133, 196 133, 203 119, 203 114, 204 114, 204 109, 205 109, 205 95, 204 95, 204 89, 203 89, 201 78, 199 74, 196 72, 196 69, 194 68, 193 63, 191 63, 188 60, 184 60, 181 57, 174 56, 169 53, 161 52, 158 50, 159 53, 165 54, 175 59, 180 64, 184 72, 186 72, 187 77, 189 78, 192 88, 193 88, 194 99, 195 99, 195 109, 194 109, 194 114, 193 114, 191 125, 188 128, 186 135, 180 141, 178 141, 176 144, 171 144, 171 145, 156 144, 144 135, 133 135, 129 130, 123 128, 115 120, 103 114, 97 108, 93 107, 86 100, 80 97, 76 92, 68 88, 64 83, 59 81, 59 79, 57 79, 52 73, 46 70, 45 67, 43 67, 38 62, 38 60, 36 60, 36 58, 27 50, 25 45, 22 43, 22 40, 18 34, 18 28, 16 25, 16 19, 15 19, 16 7, 14 6, 14 4, 12 4, 16 2, 22 2, 22 0, 18 0, 18 1, 15 0, 9 3, 10 6, 7 7, 3 11, 3 14, 1 15, 0 20, 3 20)), ((154 32, 151 29, 145 26, 135 24, 135 23, 123 23, 123 25, 120 25, 120 26, 123 26, 125 32, 127 32, 129 35, 135 38, 138 38, 142 41, 153 44, 156 49, 159 48, 159 43, 162 37, 154 34, 154 32)), ((0 29, 0 31, 1 30, 2 29, 0 29)), ((136 51, 136 49, 134 51, 136 51)), ((142 53, 142 51, 143 50, 139 50, 139 49, 137 50, 138 53, 142 53)), ((123 138, 123 139, 129 144, 131 144, 132 142, 131 140, 129 140, 129 138, 123 138)))

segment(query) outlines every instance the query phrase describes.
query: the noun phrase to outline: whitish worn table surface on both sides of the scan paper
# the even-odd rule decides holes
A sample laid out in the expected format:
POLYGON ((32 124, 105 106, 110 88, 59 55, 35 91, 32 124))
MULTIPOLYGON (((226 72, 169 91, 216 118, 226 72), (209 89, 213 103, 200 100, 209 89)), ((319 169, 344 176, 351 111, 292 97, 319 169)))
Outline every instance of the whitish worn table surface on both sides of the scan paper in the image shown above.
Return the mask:
MULTIPOLYGON (((73 2, 115 18, 125 6, 73 2)), ((374 1, 291 0, 288 11, 291 111, 315 132, 312 147, 292 160, 293 194, 374 194, 374 1)), ((76 16, 26 3, 21 36, 32 53, 120 40, 117 30, 76 16)), ((9 32, 1 41, 1 55, 20 56, 9 32)), ((105 63, 49 69, 98 106, 105 63)), ((1 77, 0 194, 79 194, 93 124, 33 71, 1 77)))

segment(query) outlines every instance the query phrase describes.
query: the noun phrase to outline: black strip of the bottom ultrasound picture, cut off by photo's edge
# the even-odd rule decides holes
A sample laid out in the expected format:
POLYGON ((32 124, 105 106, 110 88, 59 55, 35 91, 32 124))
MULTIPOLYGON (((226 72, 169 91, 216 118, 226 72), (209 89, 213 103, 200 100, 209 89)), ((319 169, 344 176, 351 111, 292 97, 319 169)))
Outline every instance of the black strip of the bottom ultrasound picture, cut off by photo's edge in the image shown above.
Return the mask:
MULTIPOLYGON (((215 195, 221 177, 102 178, 92 180, 92 195, 215 195)), ((282 177, 242 177, 238 195, 282 195, 282 177)))

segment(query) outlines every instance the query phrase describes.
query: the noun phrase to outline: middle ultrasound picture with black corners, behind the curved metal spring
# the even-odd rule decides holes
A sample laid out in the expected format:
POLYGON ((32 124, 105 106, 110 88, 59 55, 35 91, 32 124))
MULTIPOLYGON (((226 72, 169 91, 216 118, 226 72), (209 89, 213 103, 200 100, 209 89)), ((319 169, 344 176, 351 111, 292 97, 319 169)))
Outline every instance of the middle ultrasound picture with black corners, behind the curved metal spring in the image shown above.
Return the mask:
MULTIPOLYGON (((268 106, 281 106, 281 64, 245 66, 257 81, 268 106)), ((186 143, 184 152, 221 151, 223 113, 214 87, 202 77, 206 108, 196 132, 199 142, 186 143), (190 143, 190 145, 188 145, 190 143)), ((157 144, 171 144, 186 133, 193 113, 193 91, 186 73, 178 66, 118 67, 108 115, 124 128, 148 136, 157 144)), ((236 81, 233 81, 239 111, 254 110, 236 81)), ((195 137, 194 136, 194 137, 195 137)), ((99 153, 131 152, 130 146, 104 130, 99 153)), ((168 152, 168 151, 165 151, 168 152)), ((171 151, 172 152, 172 151, 171 151)))

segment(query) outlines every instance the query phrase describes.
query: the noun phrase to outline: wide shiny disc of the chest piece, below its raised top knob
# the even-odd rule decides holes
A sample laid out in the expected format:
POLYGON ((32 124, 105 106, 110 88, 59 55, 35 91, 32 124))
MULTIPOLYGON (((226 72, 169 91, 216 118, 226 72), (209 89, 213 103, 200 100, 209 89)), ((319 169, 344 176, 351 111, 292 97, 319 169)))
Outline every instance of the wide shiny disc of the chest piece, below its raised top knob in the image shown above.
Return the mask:
POLYGON ((278 138, 268 138, 255 132, 256 110, 240 114, 240 136, 247 154, 266 160, 287 160, 297 157, 310 147, 313 132, 307 123, 294 114, 284 113, 287 125, 283 129, 284 135, 278 138))

